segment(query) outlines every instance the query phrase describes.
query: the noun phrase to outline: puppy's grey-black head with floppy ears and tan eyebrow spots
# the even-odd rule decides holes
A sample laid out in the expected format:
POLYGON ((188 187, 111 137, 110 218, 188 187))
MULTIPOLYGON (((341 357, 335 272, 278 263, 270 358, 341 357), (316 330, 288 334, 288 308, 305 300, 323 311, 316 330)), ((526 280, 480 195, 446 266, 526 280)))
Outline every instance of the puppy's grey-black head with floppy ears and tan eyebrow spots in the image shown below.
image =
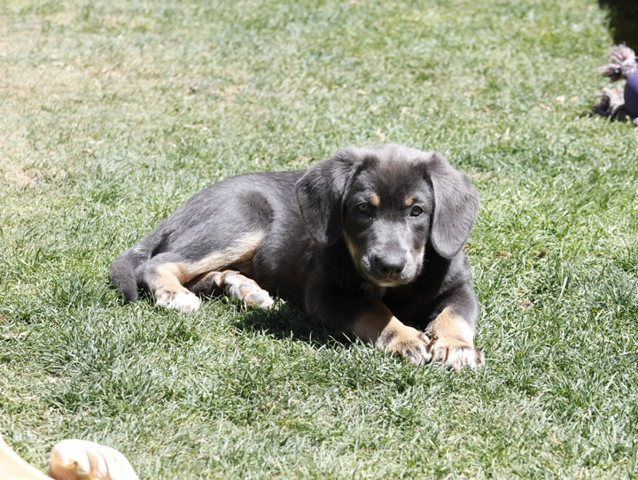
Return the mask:
POLYGON ((454 258, 478 211, 477 190, 446 159, 393 144, 338 151, 295 191, 315 241, 343 237, 358 272, 382 287, 413 282, 429 243, 454 258))

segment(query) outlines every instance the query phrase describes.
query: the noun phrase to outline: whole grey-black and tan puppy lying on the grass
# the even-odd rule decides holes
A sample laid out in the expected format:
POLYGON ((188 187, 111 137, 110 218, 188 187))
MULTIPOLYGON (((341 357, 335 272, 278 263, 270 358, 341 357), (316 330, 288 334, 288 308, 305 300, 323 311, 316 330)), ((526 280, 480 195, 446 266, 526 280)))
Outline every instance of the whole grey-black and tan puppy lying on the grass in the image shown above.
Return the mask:
POLYGON ((463 244, 478 193, 439 154, 346 148, 306 172, 202 190, 113 262, 128 298, 191 312, 213 290, 268 308, 268 291, 331 329, 413 363, 476 367, 478 302, 463 244))

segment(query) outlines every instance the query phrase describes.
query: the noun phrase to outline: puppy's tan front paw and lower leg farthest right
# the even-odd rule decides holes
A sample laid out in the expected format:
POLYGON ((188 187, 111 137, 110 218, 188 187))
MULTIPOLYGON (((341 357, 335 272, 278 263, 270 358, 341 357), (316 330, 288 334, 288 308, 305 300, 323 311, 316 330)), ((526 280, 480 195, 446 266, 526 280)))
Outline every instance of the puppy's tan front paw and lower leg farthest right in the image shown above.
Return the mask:
POLYGON ((474 332, 467 321, 447 306, 427 329, 431 334, 432 362, 448 368, 476 368, 485 363, 483 352, 474 348, 474 332))

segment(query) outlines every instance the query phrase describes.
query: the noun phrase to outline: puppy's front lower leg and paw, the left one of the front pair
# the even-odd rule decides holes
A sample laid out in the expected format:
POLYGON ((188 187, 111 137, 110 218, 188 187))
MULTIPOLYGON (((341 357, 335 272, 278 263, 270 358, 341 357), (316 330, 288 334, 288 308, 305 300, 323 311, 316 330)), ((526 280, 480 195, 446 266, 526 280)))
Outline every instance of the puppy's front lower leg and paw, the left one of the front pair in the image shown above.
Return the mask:
POLYGON ((420 365, 431 360, 430 339, 422 332, 408 327, 396 318, 381 302, 354 321, 354 335, 372 342, 377 349, 399 355, 410 363, 420 365))

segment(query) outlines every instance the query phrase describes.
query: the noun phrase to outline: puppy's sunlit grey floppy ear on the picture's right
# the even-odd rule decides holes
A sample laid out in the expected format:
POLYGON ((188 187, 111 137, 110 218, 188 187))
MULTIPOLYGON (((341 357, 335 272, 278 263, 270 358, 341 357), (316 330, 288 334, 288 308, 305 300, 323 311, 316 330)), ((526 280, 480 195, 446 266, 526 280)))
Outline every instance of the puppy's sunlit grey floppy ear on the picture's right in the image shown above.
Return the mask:
POLYGON ((452 259, 461 251, 478 212, 478 191, 438 153, 427 162, 432 190, 432 246, 441 257, 452 259))

